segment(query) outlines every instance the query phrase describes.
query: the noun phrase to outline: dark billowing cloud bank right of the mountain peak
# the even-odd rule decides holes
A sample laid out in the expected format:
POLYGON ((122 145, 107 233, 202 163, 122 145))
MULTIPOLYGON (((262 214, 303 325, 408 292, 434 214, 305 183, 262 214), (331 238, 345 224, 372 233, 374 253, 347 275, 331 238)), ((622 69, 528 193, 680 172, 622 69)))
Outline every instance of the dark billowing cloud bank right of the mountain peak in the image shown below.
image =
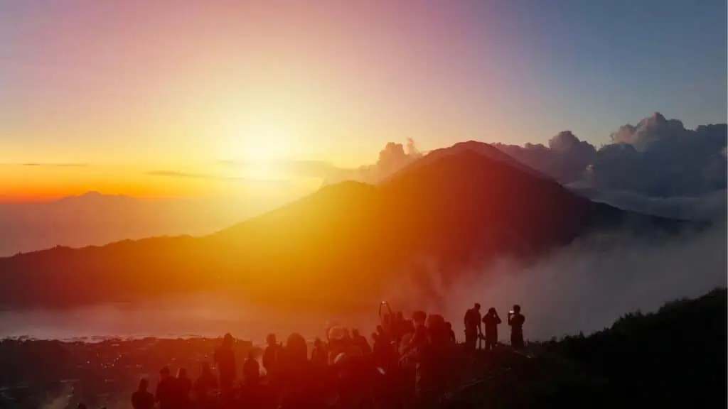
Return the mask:
POLYGON ((685 129, 676 119, 654 113, 626 124, 596 149, 569 131, 548 146, 494 146, 562 183, 645 196, 700 196, 726 188, 727 125, 685 129))

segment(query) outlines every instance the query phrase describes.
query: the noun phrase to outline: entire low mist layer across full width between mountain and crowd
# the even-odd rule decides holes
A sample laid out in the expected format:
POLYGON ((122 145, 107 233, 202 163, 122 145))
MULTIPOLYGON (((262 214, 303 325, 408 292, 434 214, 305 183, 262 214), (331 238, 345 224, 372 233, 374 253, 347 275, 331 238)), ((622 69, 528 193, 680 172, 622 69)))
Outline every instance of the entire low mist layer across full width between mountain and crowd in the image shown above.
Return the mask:
MULTIPOLYGON (((447 285, 434 264, 428 280, 400 274, 384 299, 395 310, 443 314, 463 337, 462 317, 478 302, 494 306, 505 321, 514 303, 526 315, 531 340, 585 334, 609 327, 625 313, 654 311, 676 298, 694 298, 727 286, 726 223, 679 236, 634 237, 622 231, 594 234, 523 266, 504 258, 488 267, 457 274, 447 285)), ((261 344, 267 333, 280 338, 293 331, 323 336, 329 325, 360 327, 378 323, 382 298, 361 314, 311 313, 251 306, 232 296, 184 295, 135 304, 108 304, 72 311, 5 311, 0 336, 31 338, 218 337, 231 332, 261 344)), ((507 341, 507 325, 499 336, 507 341)))

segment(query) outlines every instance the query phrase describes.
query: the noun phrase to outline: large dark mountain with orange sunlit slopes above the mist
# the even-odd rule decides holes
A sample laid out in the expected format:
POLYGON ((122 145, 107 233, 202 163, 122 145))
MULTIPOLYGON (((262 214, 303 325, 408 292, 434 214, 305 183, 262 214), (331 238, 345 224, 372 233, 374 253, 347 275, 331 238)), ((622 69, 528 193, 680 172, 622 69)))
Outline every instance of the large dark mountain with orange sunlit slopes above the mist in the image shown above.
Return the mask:
POLYGON ((502 255, 532 260, 596 229, 676 226, 590 202, 483 154, 486 146, 466 146, 473 148, 427 155, 378 186, 327 186, 206 237, 0 258, 1 305, 223 292, 280 306, 359 309, 403 275, 436 269, 453 277, 502 255))

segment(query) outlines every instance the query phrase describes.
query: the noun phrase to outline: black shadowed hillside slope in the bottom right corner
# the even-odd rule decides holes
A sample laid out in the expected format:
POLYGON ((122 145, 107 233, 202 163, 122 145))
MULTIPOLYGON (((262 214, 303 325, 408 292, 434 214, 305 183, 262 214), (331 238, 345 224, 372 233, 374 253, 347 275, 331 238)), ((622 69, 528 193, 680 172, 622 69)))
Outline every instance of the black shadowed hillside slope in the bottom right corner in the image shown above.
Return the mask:
POLYGON ((598 333, 531 346, 529 357, 503 351, 441 408, 724 408, 727 295, 625 314, 598 333))

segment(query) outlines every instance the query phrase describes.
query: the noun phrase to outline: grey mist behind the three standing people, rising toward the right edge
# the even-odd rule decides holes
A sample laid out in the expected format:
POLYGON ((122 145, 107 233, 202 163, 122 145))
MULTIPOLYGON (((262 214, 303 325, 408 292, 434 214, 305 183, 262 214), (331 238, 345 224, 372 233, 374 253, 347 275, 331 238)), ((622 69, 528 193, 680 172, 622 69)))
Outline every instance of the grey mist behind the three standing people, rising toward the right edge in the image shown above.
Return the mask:
MULTIPOLYGON (((459 327, 473 303, 494 306, 505 318, 515 303, 526 315, 527 338, 591 333, 630 311, 654 311, 676 298, 726 287, 724 221, 675 237, 635 237, 626 232, 584 237, 537 263, 502 259, 443 282, 431 268, 423 281, 392 285, 390 301, 405 311, 438 311, 459 327), (424 282, 424 284, 423 284, 424 282)), ((456 331, 459 336, 462 333, 456 331)), ((499 336, 508 338, 508 327, 499 336)))

